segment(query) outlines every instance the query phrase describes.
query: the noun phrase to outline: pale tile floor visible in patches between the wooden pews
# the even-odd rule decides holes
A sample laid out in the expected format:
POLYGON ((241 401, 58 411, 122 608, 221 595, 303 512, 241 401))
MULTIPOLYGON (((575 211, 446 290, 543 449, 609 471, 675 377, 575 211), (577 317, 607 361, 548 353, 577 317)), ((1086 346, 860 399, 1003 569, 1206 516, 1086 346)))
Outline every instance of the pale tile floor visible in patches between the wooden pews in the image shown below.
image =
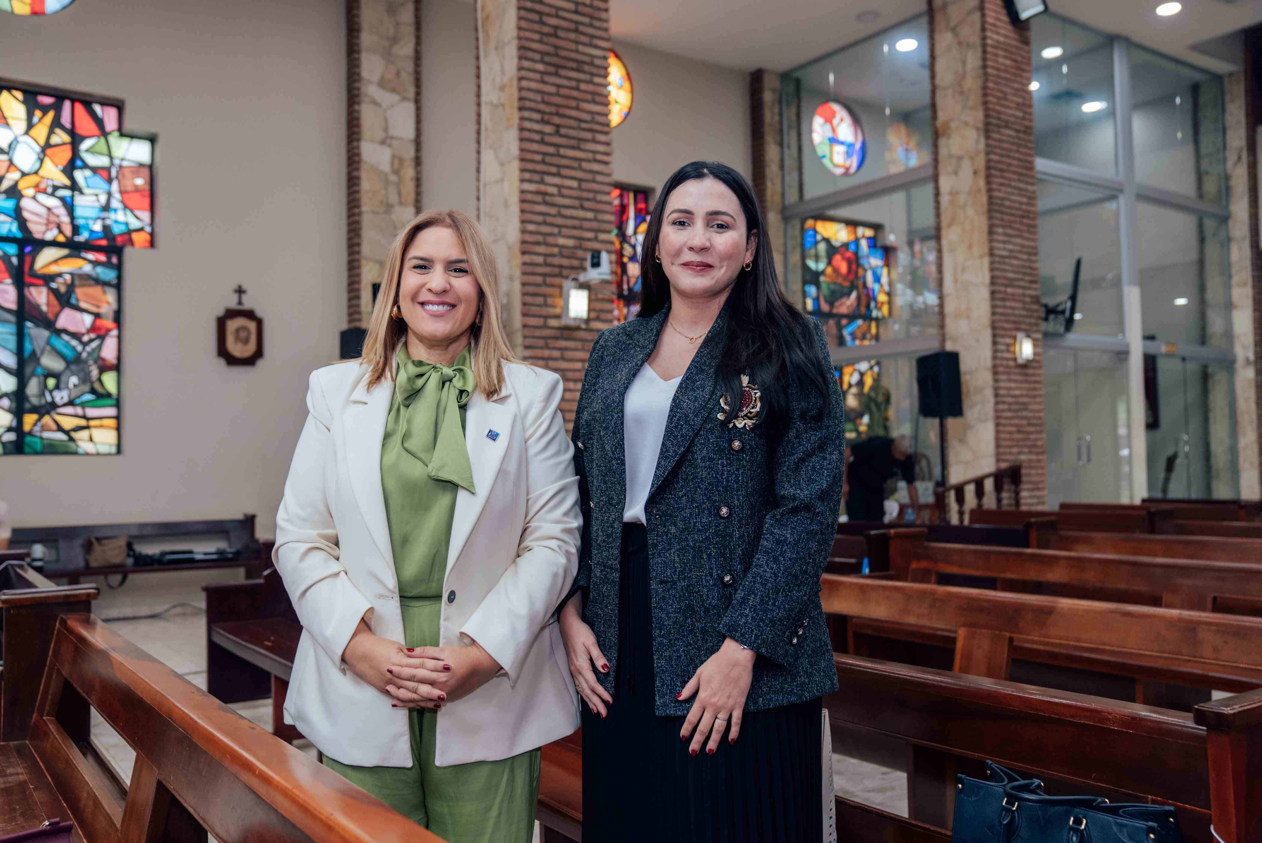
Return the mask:
MULTIPOLYGON (((95 612, 105 618, 149 615, 175 603, 162 617, 116 620, 110 626, 136 646, 160 659, 198 688, 206 688, 206 601, 202 584, 213 581, 240 579, 233 570, 170 572, 131 577, 121 588, 111 591, 103 584, 95 612)), ((237 703, 232 708, 261 727, 271 728, 271 703, 266 699, 237 703)), ((92 742, 127 781, 135 753, 95 712, 92 742)), ((316 748, 307 741, 295 746, 314 757, 316 748)), ((833 785, 837 795, 876 805, 893 814, 907 814, 907 784, 901 770, 888 770, 842 755, 833 756, 833 785)), ((538 839, 538 830, 536 830, 538 839)))

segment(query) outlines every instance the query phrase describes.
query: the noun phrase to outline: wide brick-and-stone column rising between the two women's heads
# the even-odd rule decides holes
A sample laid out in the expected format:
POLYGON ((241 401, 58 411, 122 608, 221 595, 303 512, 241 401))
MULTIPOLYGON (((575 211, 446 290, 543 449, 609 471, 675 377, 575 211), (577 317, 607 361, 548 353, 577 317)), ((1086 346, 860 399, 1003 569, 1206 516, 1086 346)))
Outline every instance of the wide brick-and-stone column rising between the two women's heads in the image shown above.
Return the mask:
POLYGON ((560 324, 560 290, 610 250, 608 0, 478 0, 480 199, 504 274, 514 347, 565 380, 573 419, 607 284, 587 327, 560 324))

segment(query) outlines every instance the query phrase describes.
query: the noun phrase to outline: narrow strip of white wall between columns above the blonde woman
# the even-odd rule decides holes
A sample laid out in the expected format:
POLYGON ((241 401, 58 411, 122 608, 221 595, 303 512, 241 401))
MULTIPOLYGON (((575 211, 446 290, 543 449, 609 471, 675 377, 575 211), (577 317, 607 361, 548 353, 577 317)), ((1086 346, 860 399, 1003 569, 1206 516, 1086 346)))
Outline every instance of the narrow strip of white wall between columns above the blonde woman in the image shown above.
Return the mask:
POLYGON ((477 32, 467 0, 422 4, 420 175, 425 208, 477 208, 477 32))

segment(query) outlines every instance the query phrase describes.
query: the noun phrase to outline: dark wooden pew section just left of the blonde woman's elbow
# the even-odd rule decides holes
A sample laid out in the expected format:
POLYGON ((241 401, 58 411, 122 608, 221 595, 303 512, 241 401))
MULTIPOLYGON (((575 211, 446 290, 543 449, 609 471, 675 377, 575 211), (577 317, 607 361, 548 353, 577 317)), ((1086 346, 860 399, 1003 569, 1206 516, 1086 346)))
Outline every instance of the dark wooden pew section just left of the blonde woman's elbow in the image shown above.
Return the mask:
POLYGON ((270 695, 273 733, 284 741, 300 738, 284 722, 284 707, 303 627, 280 574, 269 568, 257 579, 208 583, 202 592, 206 689, 225 703, 270 695))

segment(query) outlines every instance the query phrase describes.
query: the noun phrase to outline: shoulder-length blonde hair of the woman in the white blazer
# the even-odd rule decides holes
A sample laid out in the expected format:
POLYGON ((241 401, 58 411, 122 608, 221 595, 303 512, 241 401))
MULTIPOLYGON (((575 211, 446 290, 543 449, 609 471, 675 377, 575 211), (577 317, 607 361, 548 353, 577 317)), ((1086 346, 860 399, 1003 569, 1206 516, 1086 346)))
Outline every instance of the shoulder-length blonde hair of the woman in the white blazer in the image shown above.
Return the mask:
POLYGON ((390 256, 381 276, 381 292, 372 308, 369 321, 369 333, 363 338, 363 356, 360 362, 369 367, 369 389, 382 380, 392 379, 395 353, 399 343, 408 337, 408 324, 395 319, 390 312, 399 302, 399 281, 403 275, 403 262, 408 247, 425 228, 451 228, 464 247, 468 268, 482 292, 478 303, 478 318, 473 322, 469 334, 469 358, 473 362, 473 376, 477 387, 486 398, 495 398, 504 386, 504 362, 520 362, 512 355, 512 346, 504 332, 504 318, 500 310, 500 269, 491 252, 482 226, 472 217, 459 211, 425 211, 403 227, 390 246, 390 256))

